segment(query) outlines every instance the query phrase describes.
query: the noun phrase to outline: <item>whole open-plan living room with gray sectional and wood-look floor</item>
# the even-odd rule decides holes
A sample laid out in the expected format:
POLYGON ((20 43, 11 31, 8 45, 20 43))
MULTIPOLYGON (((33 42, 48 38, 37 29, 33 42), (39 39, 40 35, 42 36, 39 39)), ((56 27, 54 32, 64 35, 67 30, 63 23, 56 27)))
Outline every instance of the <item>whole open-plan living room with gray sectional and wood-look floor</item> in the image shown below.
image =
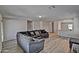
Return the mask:
POLYGON ((79 5, 0 5, 1 53, 79 53, 79 5))

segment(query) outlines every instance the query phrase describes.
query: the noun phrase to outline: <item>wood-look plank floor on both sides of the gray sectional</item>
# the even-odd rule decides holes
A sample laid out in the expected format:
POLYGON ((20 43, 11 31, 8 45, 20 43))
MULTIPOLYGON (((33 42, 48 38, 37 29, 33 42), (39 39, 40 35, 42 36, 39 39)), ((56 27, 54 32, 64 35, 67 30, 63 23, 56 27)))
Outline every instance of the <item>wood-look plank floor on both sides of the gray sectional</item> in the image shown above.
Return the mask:
MULTIPOLYGON (((59 37, 55 33, 49 33, 49 38, 45 39, 44 49, 40 53, 68 53, 68 38, 59 37)), ((3 42, 2 53, 23 53, 17 45, 16 40, 3 42)))

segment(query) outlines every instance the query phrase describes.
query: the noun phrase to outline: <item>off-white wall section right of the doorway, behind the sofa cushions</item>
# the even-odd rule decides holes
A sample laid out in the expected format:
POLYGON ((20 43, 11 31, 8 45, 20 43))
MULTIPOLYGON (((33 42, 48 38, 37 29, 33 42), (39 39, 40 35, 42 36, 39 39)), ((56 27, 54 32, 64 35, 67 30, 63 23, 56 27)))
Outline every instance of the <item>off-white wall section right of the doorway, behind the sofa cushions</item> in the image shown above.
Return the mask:
POLYGON ((52 22, 49 21, 33 21, 33 30, 45 29, 52 32, 52 22))

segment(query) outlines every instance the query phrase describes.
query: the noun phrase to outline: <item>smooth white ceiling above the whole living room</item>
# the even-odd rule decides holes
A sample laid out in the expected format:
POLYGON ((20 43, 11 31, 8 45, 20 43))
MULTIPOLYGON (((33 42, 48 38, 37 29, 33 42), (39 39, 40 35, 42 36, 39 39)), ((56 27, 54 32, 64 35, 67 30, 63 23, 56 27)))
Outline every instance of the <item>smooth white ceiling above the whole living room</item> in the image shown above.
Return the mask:
POLYGON ((63 19, 79 15, 78 5, 55 5, 56 8, 49 8, 50 5, 0 5, 0 14, 4 18, 30 18, 38 19, 63 19))

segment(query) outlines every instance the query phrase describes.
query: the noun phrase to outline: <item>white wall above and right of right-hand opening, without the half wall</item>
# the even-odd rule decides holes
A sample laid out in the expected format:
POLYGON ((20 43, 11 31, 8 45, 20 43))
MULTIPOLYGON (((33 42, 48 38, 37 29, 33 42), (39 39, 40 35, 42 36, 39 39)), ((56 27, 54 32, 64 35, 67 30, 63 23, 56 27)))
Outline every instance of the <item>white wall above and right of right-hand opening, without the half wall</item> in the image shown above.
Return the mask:
POLYGON ((72 23, 73 24, 73 33, 79 33, 79 17, 73 17, 73 19, 71 19, 71 20, 59 21, 60 24, 58 24, 58 26, 60 26, 62 22, 63 23, 67 23, 67 22, 72 23))

